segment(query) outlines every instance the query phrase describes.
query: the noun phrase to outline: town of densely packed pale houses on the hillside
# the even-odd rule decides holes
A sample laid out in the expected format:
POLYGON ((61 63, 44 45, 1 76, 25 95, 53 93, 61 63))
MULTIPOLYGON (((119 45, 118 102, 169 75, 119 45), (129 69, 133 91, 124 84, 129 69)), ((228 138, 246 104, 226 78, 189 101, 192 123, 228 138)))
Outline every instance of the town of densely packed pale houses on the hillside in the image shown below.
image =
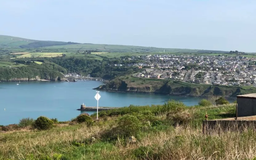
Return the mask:
MULTIPOLYGON (((256 59, 244 56, 147 55, 137 56, 144 62, 141 78, 175 79, 189 83, 256 86, 256 59)), ((136 59, 135 56, 127 60, 136 59)), ((121 64, 119 64, 121 65, 121 64)))

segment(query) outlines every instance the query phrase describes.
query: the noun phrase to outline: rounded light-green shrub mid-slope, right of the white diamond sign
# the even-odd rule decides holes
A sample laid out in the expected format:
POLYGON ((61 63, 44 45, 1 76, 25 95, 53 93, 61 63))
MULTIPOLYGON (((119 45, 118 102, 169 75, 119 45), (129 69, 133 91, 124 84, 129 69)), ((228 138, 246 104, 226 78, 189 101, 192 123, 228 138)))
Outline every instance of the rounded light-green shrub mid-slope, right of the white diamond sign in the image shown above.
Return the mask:
POLYGON ((141 122, 133 115, 124 115, 118 119, 118 133, 121 136, 132 136, 141 129, 141 122))

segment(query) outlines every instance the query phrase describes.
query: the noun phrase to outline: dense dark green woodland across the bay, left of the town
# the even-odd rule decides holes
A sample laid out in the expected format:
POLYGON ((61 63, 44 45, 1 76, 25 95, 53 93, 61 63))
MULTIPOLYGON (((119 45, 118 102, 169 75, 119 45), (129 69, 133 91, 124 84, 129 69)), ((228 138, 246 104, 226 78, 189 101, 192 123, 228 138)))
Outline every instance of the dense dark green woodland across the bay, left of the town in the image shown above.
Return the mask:
POLYGON ((13 78, 35 78, 56 79, 63 77, 68 72, 80 75, 90 74, 91 77, 112 79, 118 76, 132 74, 141 71, 138 67, 114 66, 120 63, 117 59, 103 59, 102 61, 91 58, 55 57, 55 58, 23 58, 12 62, 25 64, 17 68, 0 68, 0 80, 11 80, 13 78), (42 65, 30 61, 43 62, 42 65))

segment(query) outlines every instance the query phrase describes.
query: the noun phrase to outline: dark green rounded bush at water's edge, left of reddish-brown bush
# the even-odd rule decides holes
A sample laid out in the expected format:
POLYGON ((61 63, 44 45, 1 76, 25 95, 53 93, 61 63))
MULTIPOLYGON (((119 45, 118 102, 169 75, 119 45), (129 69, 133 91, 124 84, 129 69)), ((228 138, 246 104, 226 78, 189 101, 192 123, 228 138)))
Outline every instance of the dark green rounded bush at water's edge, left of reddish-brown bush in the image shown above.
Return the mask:
POLYGON ((53 121, 47 117, 41 116, 35 120, 33 126, 38 130, 49 130, 53 127, 53 121))

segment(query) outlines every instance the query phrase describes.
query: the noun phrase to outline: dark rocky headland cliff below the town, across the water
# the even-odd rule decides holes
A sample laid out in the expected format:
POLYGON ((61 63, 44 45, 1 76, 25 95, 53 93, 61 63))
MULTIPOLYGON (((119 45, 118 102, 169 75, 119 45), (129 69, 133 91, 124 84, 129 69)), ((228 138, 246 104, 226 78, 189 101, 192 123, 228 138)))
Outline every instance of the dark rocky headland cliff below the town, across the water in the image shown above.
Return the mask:
POLYGON ((205 84, 190 84, 173 80, 150 80, 143 78, 116 78, 105 85, 95 88, 117 92, 156 93, 182 96, 223 96, 235 97, 239 94, 256 93, 255 87, 217 86, 205 84))

